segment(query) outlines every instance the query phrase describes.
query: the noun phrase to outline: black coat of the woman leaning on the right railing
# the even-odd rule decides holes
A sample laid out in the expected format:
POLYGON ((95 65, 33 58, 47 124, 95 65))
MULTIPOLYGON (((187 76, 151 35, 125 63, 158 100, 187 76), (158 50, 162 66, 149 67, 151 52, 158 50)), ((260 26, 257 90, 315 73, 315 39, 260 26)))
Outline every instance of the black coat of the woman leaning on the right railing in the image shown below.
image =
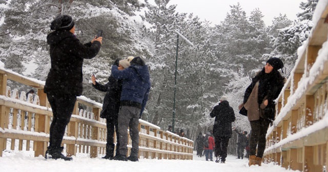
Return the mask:
POLYGON ((252 93, 252 90, 259 81, 257 106, 259 107, 263 100, 268 99, 268 105, 264 109, 264 118, 274 120, 275 118, 275 102, 274 100, 279 96, 284 85, 284 77, 280 75, 277 70, 272 70, 267 74, 264 68, 253 79, 252 83, 246 89, 243 103, 245 104, 252 93), (264 99, 265 98, 265 99, 264 99))

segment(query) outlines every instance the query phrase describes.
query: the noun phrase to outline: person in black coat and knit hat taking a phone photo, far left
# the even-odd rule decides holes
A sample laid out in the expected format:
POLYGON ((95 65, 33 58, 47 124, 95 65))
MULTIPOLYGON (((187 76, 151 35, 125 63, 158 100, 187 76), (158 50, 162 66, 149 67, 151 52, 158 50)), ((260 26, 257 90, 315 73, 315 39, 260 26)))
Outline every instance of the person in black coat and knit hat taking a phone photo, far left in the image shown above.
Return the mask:
POLYGON ((91 59, 100 50, 102 37, 94 38, 83 45, 75 37, 74 21, 69 15, 59 15, 50 26, 53 32, 47 36, 50 45, 51 68, 44 92, 51 105, 53 119, 50 125, 49 146, 45 158, 72 160, 61 152, 61 141, 69 123, 76 96, 82 93, 83 60, 91 59))

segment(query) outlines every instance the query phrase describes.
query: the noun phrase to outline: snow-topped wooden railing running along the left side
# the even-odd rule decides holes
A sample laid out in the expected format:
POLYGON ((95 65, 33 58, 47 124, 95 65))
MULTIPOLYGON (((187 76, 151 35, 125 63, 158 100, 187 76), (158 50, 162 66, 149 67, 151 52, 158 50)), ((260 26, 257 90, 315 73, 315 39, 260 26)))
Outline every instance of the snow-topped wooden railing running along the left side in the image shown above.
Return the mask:
MULTIPOLYGON (((44 93, 44 81, 30 79, 0 68, 0 156, 5 149, 34 150, 34 156, 45 155, 49 142, 52 111, 44 93), (29 85, 37 95, 26 98, 11 90, 7 80, 29 85)), ((98 157, 106 150, 106 121, 100 118, 102 104, 84 96, 77 97, 71 120, 63 139, 68 156, 77 153, 98 157), (86 110, 78 109, 83 105, 86 110)), ((128 132, 128 131, 127 131, 128 132)), ((193 141, 181 138, 144 120, 139 120, 139 158, 192 159, 193 141)), ((116 137, 115 137, 116 142, 116 137)), ((129 136, 128 154, 131 149, 129 136)))

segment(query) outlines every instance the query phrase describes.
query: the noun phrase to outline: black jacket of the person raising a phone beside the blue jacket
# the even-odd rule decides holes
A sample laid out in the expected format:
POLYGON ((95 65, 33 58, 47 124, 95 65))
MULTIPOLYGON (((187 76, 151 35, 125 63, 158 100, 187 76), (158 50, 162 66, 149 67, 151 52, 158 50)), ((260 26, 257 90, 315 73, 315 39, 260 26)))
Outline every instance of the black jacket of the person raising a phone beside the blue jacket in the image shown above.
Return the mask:
POLYGON ((117 118, 119 110, 119 98, 121 96, 122 82, 109 76, 108 82, 103 85, 98 82, 92 86, 102 92, 106 92, 103 102, 103 110, 100 112, 100 118, 112 120, 117 118))

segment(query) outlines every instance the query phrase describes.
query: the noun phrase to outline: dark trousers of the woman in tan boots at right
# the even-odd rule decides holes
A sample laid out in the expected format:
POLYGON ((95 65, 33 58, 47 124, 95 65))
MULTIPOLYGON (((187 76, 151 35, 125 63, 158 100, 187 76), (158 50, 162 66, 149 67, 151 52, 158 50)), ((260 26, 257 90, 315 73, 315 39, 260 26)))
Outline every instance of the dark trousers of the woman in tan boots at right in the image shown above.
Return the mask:
POLYGON ((265 149, 265 143, 267 142, 265 135, 267 135, 270 120, 260 117, 259 120, 250 121, 250 123, 252 128, 252 134, 250 138, 250 155, 256 155, 257 157, 262 158, 265 149))

